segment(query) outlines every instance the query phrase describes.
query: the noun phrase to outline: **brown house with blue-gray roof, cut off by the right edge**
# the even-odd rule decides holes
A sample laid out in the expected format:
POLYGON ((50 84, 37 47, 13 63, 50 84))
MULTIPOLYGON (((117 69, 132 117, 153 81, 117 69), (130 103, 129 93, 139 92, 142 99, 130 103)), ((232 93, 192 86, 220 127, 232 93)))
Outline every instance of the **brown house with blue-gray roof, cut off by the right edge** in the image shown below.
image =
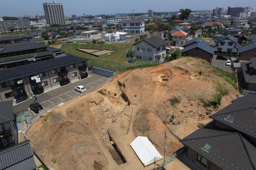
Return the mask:
POLYGON ((256 57, 256 44, 241 46, 238 48, 238 60, 250 60, 250 58, 256 57))

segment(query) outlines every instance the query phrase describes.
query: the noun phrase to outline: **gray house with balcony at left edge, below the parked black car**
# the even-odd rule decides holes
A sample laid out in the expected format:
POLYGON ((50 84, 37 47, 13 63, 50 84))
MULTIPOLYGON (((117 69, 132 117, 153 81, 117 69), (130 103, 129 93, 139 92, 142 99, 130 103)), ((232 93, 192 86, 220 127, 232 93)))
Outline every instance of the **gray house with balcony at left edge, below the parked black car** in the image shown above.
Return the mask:
POLYGON ((18 144, 19 142, 18 129, 14 121, 15 117, 12 106, 12 100, 0 102, 0 150, 18 144))

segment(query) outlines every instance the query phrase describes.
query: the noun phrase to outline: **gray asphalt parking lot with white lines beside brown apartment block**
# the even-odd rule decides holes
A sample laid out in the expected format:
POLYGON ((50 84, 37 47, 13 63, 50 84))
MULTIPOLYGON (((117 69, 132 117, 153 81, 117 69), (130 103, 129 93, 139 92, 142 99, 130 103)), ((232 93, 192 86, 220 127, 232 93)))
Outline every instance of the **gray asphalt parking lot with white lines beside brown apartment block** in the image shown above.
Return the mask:
MULTIPOLYGON (((104 84, 108 77, 101 76, 99 74, 95 74, 89 72, 90 77, 84 78, 82 80, 75 81, 73 83, 67 84, 65 86, 57 87, 56 89, 49 90, 45 93, 42 93, 37 96, 37 102, 40 103, 43 107, 48 107, 55 103, 61 102, 71 96, 75 96, 78 92, 75 92, 75 86, 82 85, 87 90, 90 90, 94 87, 97 87, 101 84, 104 84)), ((18 103, 13 106, 13 113, 20 113, 27 111, 30 107, 30 104, 33 103, 33 99, 25 100, 24 102, 18 103)))

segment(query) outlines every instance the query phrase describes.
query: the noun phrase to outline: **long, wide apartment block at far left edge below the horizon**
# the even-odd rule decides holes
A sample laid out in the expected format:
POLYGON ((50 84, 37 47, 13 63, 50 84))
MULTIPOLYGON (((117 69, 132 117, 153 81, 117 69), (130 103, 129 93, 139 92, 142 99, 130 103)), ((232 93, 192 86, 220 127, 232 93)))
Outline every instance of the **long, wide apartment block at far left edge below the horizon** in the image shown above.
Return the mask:
POLYGON ((29 20, 8 20, 0 21, 0 32, 10 32, 9 28, 16 30, 30 29, 29 20))

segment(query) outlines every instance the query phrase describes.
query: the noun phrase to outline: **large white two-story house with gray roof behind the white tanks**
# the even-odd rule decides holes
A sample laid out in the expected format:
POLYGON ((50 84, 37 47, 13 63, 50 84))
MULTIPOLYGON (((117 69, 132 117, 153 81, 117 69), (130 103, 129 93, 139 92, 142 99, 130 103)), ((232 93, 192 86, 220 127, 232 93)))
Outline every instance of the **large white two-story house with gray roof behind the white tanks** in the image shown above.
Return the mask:
POLYGON ((120 31, 142 34, 145 32, 145 21, 144 19, 123 19, 120 24, 120 31))

